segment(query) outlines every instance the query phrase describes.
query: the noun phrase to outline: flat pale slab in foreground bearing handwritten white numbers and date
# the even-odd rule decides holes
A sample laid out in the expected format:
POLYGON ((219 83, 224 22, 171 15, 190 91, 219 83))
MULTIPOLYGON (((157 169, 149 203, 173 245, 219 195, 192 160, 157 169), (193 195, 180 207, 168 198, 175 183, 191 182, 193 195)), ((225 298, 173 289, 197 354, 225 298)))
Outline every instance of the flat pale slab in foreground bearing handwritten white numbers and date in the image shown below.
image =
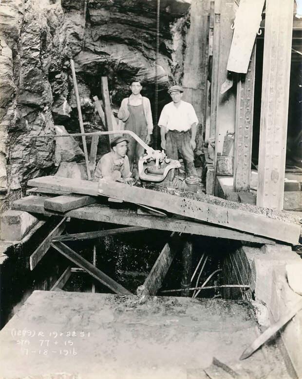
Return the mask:
POLYGON ((258 333, 245 302, 36 291, 0 332, 0 378, 204 378, 213 357, 289 378, 273 345, 238 360, 258 333))

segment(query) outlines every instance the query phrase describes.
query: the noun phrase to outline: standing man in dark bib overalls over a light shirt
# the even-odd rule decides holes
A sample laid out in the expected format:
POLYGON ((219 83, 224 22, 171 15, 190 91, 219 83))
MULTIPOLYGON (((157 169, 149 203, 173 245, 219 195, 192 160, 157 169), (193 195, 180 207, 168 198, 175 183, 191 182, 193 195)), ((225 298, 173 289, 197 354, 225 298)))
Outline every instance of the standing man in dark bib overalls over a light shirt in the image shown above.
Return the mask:
MULTIPOLYGON (((138 79, 133 79, 130 89, 132 94, 122 100, 117 117, 125 123, 124 130, 131 130, 149 144, 153 130, 150 101, 140 94, 142 85, 138 79)), ((133 170, 134 159, 137 164, 143 154, 144 148, 134 138, 129 137, 127 155, 131 171, 133 170)))

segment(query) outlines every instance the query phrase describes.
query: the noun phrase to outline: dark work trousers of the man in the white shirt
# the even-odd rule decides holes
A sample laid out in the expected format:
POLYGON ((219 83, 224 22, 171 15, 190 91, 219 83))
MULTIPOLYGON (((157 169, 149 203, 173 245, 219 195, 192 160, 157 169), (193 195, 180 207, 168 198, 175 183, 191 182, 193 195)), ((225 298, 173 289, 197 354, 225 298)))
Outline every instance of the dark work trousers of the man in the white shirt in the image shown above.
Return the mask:
POLYGON ((186 177, 197 176, 194 166, 194 154, 190 145, 190 133, 169 130, 166 136, 166 153, 170 159, 179 159, 179 154, 184 160, 186 177))

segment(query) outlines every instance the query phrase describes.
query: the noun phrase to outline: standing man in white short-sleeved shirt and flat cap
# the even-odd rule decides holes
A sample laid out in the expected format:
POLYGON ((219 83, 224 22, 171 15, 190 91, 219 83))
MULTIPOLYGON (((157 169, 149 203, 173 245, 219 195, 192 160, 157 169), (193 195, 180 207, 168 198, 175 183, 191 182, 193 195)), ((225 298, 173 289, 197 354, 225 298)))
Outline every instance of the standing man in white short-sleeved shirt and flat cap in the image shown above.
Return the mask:
POLYGON ((183 91, 181 86, 171 86, 168 90, 172 102, 164 106, 158 121, 161 147, 170 159, 179 159, 178 154, 182 156, 186 177, 197 177, 193 150, 198 119, 192 104, 182 100, 183 91))

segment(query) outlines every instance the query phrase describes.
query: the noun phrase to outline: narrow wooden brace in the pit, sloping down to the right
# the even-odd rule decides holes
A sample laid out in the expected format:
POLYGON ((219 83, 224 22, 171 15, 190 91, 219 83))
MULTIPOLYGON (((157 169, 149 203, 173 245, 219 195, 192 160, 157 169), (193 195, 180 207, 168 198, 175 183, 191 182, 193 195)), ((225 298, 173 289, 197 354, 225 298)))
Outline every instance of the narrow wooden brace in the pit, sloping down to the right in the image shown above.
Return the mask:
POLYGON ((60 241, 52 242, 51 246, 54 247, 64 257, 68 258, 72 262, 76 263, 76 265, 84 269, 89 275, 93 276, 96 280, 98 280, 105 286, 109 287, 114 293, 117 293, 120 295, 132 294, 126 288, 124 288, 123 286, 118 284, 115 280, 113 280, 111 277, 103 273, 98 268, 94 267, 93 264, 91 264, 86 259, 81 257, 70 247, 66 246, 64 243, 60 241))

